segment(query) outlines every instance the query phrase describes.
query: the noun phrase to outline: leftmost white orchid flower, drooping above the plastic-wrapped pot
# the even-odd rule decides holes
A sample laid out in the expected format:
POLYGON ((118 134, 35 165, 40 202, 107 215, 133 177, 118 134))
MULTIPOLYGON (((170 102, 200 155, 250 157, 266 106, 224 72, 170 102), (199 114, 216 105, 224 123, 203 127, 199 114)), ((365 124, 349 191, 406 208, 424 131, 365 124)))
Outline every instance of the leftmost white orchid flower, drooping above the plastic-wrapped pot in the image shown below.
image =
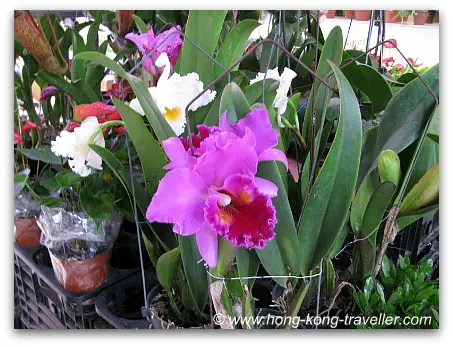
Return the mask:
POLYGON ((105 147, 104 135, 97 117, 87 117, 73 132, 63 130, 52 141, 51 151, 69 158, 72 171, 80 176, 88 176, 93 169, 102 170, 102 158, 89 145, 105 147))

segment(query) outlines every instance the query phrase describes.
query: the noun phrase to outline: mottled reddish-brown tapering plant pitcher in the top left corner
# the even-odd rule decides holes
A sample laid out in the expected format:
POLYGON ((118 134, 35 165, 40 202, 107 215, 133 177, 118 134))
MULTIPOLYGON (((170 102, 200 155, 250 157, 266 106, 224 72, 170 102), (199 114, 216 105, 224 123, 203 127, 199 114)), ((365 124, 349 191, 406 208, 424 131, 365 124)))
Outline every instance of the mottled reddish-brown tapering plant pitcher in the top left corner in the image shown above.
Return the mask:
POLYGON ((30 11, 14 11, 14 37, 31 53, 44 70, 63 75, 68 64, 61 63, 30 11))

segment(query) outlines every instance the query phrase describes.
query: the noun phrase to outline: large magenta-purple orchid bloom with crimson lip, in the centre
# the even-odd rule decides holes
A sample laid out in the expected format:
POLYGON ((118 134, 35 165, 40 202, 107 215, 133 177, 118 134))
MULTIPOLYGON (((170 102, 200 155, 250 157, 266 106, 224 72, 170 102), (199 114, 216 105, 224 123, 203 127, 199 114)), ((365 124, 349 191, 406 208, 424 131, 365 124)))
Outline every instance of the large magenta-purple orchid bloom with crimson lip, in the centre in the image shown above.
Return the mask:
POLYGON ((160 181, 146 212, 150 222, 174 224, 180 235, 196 234, 198 249, 210 267, 217 264, 218 235, 238 247, 264 248, 277 223, 271 198, 278 187, 256 177, 258 162, 278 160, 278 132, 266 109, 253 109, 236 124, 226 113, 219 127, 199 125, 187 139, 163 141, 170 171, 160 181))

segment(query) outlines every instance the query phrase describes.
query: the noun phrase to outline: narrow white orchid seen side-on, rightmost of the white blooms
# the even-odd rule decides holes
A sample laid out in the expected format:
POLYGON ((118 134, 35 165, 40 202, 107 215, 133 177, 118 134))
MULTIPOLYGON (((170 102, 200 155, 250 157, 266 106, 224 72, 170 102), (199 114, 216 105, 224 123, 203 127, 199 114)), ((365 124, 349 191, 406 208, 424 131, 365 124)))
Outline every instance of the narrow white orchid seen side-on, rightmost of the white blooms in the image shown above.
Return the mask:
POLYGON ((294 79, 294 77, 297 76, 297 74, 293 70, 285 67, 282 74, 280 75, 278 73, 278 68, 275 68, 272 70, 267 70, 266 74, 264 72, 259 72, 256 75, 256 78, 250 81, 250 84, 262 81, 265 75, 266 79, 270 78, 279 82, 277 95, 275 96, 272 106, 277 109, 278 126, 280 128, 284 128, 284 125, 282 123, 282 114, 285 113, 286 107, 288 105, 288 91, 291 87, 291 81, 294 79))

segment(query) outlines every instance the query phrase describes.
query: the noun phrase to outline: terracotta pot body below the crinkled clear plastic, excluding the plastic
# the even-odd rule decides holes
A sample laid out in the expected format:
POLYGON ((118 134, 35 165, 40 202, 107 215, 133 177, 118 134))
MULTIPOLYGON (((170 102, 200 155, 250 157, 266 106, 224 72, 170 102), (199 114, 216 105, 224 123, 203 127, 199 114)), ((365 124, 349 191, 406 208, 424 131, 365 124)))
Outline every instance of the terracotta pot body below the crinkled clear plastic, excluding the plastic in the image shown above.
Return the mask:
POLYGON ((51 251, 49 254, 58 283, 70 292, 84 293, 95 290, 109 277, 111 250, 85 260, 64 260, 51 251))

